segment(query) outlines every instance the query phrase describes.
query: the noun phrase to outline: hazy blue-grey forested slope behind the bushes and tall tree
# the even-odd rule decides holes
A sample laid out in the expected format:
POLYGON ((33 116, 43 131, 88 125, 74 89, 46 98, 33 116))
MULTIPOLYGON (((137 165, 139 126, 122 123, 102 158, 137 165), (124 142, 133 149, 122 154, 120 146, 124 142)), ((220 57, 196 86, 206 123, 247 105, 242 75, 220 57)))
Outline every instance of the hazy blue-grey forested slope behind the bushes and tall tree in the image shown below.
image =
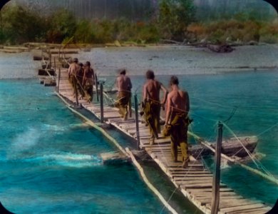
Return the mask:
MULTIPOLYGON (((59 7, 86 19, 126 17, 133 21, 153 18, 160 0, 11 0, 37 9, 41 13, 59 7)), ((274 16, 272 6, 262 0, 194 0, 198 19, 220 19, 239 13, 252 13, 262 19, 274 16)))

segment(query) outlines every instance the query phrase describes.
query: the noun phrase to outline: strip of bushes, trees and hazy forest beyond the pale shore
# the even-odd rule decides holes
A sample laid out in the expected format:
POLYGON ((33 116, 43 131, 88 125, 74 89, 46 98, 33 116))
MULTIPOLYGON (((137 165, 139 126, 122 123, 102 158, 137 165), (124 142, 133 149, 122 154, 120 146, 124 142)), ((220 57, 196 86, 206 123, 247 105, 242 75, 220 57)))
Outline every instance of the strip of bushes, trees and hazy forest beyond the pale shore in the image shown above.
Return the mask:
POLYGON ((11 0, 0 44, 278 43, 277 20, 263 0, 11 0))

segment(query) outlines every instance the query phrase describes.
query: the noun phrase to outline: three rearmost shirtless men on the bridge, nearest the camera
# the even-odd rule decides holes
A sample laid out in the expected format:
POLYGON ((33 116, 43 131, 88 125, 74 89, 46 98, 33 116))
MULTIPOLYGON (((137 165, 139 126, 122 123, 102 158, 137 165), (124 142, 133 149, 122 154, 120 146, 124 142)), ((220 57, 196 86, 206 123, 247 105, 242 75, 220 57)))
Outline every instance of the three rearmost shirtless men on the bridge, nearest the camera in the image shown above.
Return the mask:
MULTIPOLYGON (((163 126, 163 135, 170 136, 171 153, 173 161, 177 162, 177 146, 180 146, 182 152, 182 168, 187 168, 190 158, 187 147, 187 128, 190 124, 188 112, 190 111, 190 100, 187 91, 179 88, 177 76, 170 78, 170 92, 162 83, 155 79, 153 71, 149 70, 145 74, 146 82, 143 86, 143 116, 145 122, 150 128, 150 145, 153 145, 155 139, 158 139, 160 130, 160 108, 165 108, 165 125, 163 126), (160 90, 163 91, 163 101, 160 102, 160 90)), ((116 79, 118 87, 118 100, 115 106, 119 108, 119 113, 124 120, 128 118, 130 108, 132 83, 126 76, 126 71, 120 71, 116 79)))

